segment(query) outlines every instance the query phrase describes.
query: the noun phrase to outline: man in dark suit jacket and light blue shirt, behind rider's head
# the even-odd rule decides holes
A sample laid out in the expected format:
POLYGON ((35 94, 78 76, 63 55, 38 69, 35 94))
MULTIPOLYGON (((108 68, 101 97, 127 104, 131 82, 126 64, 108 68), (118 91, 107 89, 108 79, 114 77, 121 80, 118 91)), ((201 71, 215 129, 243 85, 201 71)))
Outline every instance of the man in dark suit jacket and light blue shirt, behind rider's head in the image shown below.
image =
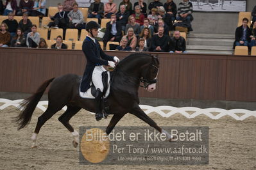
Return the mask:
POLYGON ((107 23, 105 35, 103 37, 104 45, 107 42, 120 42, 122 38, 122 27, 119 22, 116 21, 115 14, 111 15, 111 21, 107 23))

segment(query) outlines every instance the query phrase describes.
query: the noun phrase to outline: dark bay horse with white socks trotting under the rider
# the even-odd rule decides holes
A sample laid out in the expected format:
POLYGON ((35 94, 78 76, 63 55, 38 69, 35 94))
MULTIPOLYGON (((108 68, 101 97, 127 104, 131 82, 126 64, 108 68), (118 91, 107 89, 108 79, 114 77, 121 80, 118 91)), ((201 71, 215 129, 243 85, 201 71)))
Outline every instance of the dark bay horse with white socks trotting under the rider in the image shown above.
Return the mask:
MULTIPOLYGON (((171 135, 163 128, 158 127, 157 123, 151 120, 139 107, 138 89, 140 82, 144 83, 144 88, 148 91, 153 91, 157 82, 158 69, 158 58, 143 53, 131 54, 116 66, 114 72, 112 72, 110 95, 107 98, 107 104, 110 107, 109 112, 114 114, 106 129, 107 134, 110 134, 118 121, 123 118, 124 114, 129 112, 148 123, 151 127, 156 128, 159 132, 166 134, 168 140, 171 139, 171 135)), ((32 148, 36 147, 37 135, 42 125, 65 105, 67 105, 67 110, 58 120, 73 135, 74 147, 78 145, 78 132, 69 124, 69 120, 71 120, 81 108, 95 112, 94 100, 80 97, 78 90, 80 82, 81 77, 74 74, 49 79, 37 89, 35 94, 22 102, 21 107, 23 110, 19 116, 17 116, 18 130, 24 128, 30 122, 35 107, 37 107, 44 91, 51 83, 48 92, 48 107, 46 111, 38 117, 37 126, 31 137, 33 142, 32 148)))

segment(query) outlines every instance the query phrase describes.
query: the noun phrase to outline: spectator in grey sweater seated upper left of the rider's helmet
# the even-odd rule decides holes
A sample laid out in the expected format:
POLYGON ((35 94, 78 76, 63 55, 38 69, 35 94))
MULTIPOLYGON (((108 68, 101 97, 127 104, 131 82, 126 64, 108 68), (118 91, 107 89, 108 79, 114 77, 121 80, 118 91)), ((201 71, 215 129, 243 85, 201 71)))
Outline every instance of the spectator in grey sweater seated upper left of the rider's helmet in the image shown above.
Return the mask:
POLYGON ((69 17, 69 28, 76 28, 76 29, 83 29, 83 13, 81 13, 80 10, 78 10, 78 4, 73 4, 73 10, 67 14, 67 17, 69 17))

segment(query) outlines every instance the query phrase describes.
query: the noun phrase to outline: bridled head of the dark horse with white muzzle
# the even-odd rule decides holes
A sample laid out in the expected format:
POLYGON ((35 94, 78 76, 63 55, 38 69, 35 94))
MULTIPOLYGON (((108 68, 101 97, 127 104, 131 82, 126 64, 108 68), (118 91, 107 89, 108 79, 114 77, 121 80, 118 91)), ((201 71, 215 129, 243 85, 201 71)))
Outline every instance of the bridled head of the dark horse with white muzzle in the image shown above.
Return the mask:
POLYGON ((141 82, 148 91, 156 89, 157 75, 159 71, 159 60, 157 56, 151 56, 151 61, 142 70, 141 82))

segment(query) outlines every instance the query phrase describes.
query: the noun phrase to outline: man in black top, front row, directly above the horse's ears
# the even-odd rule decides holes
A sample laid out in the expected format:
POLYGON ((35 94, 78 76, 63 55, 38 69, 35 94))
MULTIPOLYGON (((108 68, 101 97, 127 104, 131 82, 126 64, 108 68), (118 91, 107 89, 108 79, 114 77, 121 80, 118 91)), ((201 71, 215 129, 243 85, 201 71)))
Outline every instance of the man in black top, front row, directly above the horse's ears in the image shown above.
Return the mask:
POLYGON ((169 36, 164 35, 164 27, 158 27, 158 34, 154 35, 151 40, 151 51, 154 52, 168 52, 169 36))

